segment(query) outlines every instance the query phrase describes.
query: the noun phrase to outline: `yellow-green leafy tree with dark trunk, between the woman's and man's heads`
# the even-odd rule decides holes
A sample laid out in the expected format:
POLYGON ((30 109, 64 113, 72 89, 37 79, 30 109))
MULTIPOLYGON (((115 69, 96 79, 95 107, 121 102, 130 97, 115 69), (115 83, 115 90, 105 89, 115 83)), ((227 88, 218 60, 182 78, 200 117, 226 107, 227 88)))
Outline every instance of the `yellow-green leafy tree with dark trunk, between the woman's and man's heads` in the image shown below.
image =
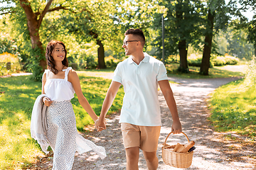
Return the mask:
MULTIPOLYGON (((69 30, 77 38, 78 42, 83 40, 94 40, 98 45, 97 57, 98 68, 105 69, 105 48, 104 44, 116 42, 119 36, 119 25, 114 24, 117 20, 114 16, 117 15, 117 8, 120 1, 80 1, 73 5, 75 11, 72 16, 68 16, 63 20, 63 24, 70 17, 73 18, 73 23, 66 25, 69 30), (71 26, 70 25, 74 25, 71 26)), ((115 46, 115 45, 112 45, 115 46)))

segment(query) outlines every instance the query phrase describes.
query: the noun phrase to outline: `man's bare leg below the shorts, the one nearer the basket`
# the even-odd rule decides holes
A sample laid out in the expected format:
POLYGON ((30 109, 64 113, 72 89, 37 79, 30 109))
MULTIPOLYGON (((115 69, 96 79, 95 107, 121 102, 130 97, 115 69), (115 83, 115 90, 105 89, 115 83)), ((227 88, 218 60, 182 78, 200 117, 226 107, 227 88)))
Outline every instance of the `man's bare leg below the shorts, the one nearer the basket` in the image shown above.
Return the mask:
POLYGON ((146 166, 149 168, 149 170, 156 170, 158 167, 158 158, 156 157, 156 151, 155 152, 145 152, 143 151, 144 158, 146 159, 146 166))

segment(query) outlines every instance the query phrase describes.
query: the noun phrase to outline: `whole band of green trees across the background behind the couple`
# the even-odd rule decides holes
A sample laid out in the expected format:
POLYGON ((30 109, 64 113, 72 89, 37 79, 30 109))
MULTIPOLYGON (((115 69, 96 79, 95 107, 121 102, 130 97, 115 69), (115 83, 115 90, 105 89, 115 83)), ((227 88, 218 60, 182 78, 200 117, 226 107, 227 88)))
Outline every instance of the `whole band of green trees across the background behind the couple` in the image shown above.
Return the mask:
POLYGON ((0 8, 1 25, 9 28, 2 32, 16 45, 16 52, 37 80, 46 67, 44 49, 52 39, 66 43, 70 62, 81 68, 104 69, 107 67, 105 55, 116 59, 124 57, 125 30, 141 28, 147 40, 145 51, 160 59, 162 15, 165 58, 178 55, 181 72, 188 72, 190 47, 202 55, 200 72, 205 75, 212 53, 229 53, 250 60, 251 43, 256 47, 255 20, 247 21, 241 14, 247 8, 255 8, 252 1, 230 0, 228 4, 224 0, 0 2, 6 3, 0 8), (219 34, 220 30, 223 31, 219 34))

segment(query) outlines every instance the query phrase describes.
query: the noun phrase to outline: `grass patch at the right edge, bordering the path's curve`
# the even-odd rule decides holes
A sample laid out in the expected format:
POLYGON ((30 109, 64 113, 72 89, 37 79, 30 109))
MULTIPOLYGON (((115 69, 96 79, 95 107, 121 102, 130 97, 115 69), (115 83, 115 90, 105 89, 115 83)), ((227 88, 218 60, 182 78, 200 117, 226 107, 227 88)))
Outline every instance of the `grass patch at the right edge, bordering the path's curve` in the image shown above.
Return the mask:
POLYGON ((244 81, 230 82, 215 91, 209 120, 216 131, 235 131, 256 140, 256 88, 245 86, 244 81))

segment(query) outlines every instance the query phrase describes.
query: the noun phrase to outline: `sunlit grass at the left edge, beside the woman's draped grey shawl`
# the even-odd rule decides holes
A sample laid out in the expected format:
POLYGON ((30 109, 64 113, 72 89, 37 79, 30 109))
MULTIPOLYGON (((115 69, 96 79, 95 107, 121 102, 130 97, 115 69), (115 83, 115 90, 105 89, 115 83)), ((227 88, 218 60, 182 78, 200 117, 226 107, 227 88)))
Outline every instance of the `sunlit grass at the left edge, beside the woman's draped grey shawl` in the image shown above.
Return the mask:
POLYGON ((28 77, 0 79, 0 169, 24 166, 41 154, 30 137, 31 111, 40 87, 28 77))

